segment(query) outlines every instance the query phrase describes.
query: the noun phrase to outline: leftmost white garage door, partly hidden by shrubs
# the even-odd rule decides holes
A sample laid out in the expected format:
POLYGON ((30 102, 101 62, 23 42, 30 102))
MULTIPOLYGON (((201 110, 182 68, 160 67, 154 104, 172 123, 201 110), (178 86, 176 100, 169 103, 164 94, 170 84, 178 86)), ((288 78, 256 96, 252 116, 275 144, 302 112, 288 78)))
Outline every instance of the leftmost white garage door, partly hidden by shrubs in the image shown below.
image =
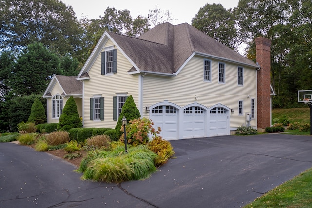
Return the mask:
POLYGON ((154 128, 161 128, 160 136, 162 138, 177 139, 177 115, 177 109, 169 105, 156 106, 151 110, 154 128))

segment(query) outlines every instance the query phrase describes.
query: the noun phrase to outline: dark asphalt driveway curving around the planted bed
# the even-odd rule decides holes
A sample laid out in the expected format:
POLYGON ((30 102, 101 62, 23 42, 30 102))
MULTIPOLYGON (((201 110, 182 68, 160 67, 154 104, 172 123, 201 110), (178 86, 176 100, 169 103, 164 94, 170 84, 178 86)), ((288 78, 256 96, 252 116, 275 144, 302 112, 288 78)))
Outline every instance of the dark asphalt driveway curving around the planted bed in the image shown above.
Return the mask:
POLYGON ((0 208, 235 208, 312 167, 312 137, 287 134, 171 141, 175 158, 150 178, 81 181, 70 163, 0 143, 0 208))

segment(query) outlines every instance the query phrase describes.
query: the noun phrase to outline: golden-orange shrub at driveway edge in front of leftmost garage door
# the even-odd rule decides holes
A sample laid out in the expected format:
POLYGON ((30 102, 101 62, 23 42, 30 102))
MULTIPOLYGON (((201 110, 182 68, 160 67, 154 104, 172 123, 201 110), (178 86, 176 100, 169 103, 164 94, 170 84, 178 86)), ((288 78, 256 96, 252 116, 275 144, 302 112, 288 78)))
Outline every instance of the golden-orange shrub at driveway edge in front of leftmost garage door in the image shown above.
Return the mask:
POLYGON ((156 166, 165 164, 169 158, 175 154, 171 143, 169 141, 163 140, 160 136, 156 136, 148 143, 148 146, 151 151, 158 155, 158 157, 155 159, 156 166))

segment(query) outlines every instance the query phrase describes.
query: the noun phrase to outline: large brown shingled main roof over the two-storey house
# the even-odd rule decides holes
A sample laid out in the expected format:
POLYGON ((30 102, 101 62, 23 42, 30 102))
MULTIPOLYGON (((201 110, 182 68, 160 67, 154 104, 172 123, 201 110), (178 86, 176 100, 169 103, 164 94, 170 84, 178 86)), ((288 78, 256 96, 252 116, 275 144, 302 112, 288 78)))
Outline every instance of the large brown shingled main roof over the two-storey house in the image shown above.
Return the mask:
MULTIPOLYGON (((229 47, 183 23, 157 25, 138 38, 108 32, 140 71, 175 73, 194 52, 219 57, 257 68, 229 47)), ((136 71, 134 68, 130 71, 136 71)))

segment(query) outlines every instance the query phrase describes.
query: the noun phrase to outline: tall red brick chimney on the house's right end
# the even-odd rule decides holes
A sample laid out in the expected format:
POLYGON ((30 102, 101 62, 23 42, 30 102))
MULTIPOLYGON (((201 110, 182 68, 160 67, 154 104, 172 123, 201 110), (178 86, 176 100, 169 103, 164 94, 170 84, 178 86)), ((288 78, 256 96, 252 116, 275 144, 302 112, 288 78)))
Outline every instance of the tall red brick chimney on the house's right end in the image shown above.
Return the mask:
POLYGON ((261 67, 257 71, 257 129, 264 132, 271 126, 271 40, 263 37, 255 38, 256 61, 261 67))

